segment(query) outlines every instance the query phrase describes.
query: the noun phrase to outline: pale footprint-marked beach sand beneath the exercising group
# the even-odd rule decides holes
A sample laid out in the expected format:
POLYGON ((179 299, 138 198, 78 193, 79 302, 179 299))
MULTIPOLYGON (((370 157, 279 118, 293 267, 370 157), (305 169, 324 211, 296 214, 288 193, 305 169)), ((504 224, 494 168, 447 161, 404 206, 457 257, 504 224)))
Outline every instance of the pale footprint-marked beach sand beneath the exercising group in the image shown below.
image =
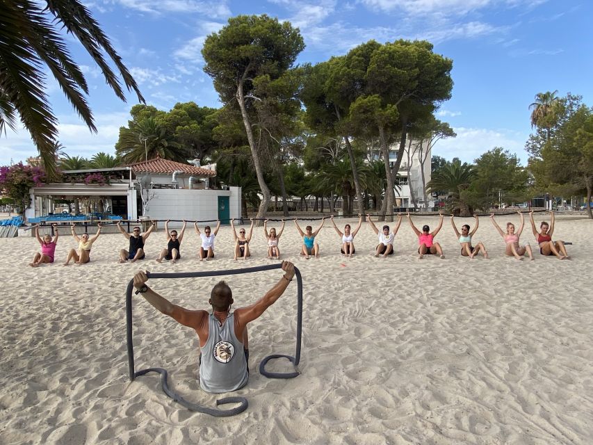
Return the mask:
MULTIPOLYGON (((506 220, 518 222, 498 218, 506 220)), ((459 226, 466 221, 457 218, 459 226)), ((437 218, 414 222, 432 228, 437 218)), ((35 238, 0 239, 0 444, 592 443, 592 221, 557 219, 554 238, 574 243, 567 246, 571 261, 539 252, 535 261, 505 257, 488 218, 474 243, 485 242, 491 259, 460 257, 448 218, 437 236, 446 259, 419 260, 405 220, 393 257, 371 255, 376 237, 365 223, 357 255, 346 259, 336 254, 339 238, 328 223, 318 236, 320 259, 298 257, 291 222, 280 241, 304 279, 302 375, 270 380, 258 371, 266 355, 294 354, 293 283, 250 325, 252 374, 231 394, 250 406, 230 418, 174 403, 158 374, 129 382, 124 293, 140 268, 273 264, 263 229, 256 227, 245 264, 233 261, 229 227, 220 229, 216 259, 202 262, 197 235, 188 230, 184 258, 174 265, 154 261, 165 245, 162 230, 147 241, 150 260, 137 265, 117 264, 117 250, 127 246, 120 234, 101 236, 90 264, 67 268, 61 263, 75 247, 70 236, 58 241, 58 261, 39 268, 27 266, 38 250, 35 238)), ((536 245, 528 227, 521 238, 536 245)), ((280 274, 228 277, 236 306, 254 302, 280 274)), ((179 305, 207 309, 216 281, 149 284, 179 305)), ((188 400, 215 407, 221 396, 204 393, 196 380, 195 332, 138 297, 133 324, 136 369, 162 366, 188 400)), ((282 361, 268 369, 291 366, 282 361)))

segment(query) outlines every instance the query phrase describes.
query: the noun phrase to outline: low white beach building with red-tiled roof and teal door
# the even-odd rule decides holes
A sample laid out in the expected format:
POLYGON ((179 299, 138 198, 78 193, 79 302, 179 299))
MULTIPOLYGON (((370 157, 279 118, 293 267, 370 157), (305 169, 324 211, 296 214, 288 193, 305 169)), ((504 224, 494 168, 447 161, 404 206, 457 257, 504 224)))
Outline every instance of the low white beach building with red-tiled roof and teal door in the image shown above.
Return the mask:
MULTIPOLYGON (((83 202, 79 213, 109 213, 129 220, 144 215, 154 220, 228 223, 229 218, 241 218, 241 188, 209 188, 216 171, 208 168, 157 158, 127 167, 63 173, 72 180, 31 188, 27 219, 55 213, 56 200, 83 202), (84 179, 93 173, 110 177, 109 183, 86 184, 84 179)), ((172 222, 170 227, 181 223, 172 222)))

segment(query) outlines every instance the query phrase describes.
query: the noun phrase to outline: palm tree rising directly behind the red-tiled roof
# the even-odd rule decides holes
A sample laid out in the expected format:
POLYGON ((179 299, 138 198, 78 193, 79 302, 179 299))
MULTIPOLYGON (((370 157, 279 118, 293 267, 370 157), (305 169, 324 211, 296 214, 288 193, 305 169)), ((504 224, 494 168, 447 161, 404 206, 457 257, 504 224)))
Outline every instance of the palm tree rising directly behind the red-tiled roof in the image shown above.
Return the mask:
POLYGON ((124 163, 142 162, 146 158, 156 157, 186 163, 190 154, 177 143, 175 136, 154 118, 132 122, 130 128, 121 127, 115 152, 124 163))

